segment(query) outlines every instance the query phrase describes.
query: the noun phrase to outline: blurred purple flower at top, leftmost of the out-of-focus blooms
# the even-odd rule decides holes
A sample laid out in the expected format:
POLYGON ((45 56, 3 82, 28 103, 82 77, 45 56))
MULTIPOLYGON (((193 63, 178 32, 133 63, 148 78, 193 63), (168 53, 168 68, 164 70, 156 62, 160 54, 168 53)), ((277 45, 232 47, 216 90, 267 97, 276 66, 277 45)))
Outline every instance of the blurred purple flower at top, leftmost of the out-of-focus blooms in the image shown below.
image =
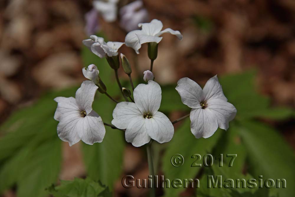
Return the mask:
POLYGON ((85 14, 86 26, 85 31, 87 35, 92 35, 99 30, 98 12, 96 9, 91 9, 85 14))

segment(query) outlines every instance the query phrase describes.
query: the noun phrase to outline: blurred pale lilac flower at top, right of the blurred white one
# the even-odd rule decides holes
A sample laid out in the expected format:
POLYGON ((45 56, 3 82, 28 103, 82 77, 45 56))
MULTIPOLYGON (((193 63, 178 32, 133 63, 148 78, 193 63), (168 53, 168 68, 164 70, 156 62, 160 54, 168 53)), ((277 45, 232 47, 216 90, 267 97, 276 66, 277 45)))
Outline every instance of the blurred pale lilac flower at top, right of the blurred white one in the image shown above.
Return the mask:
POLYGON ((148 10, 141 0, 133 1, 120 9, 120 26, 127 32, 139 29, 138 24, 148 21, 148 10))

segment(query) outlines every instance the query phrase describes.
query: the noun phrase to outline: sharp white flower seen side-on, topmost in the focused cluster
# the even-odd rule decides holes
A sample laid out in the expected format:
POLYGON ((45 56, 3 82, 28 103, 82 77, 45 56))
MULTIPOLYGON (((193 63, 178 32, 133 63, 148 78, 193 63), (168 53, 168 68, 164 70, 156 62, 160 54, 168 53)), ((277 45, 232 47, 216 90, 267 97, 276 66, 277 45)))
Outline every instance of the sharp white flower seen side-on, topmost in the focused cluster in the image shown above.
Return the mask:
POLYGON ((179 40, 182 40, 183 36, 179 31, 167 28, 163 31, 163 24, 157 19, 153 19, 150 23, 140 23, 138 27, 142 27, 142 30, 134 30, 129 32, 125 37, 125 43, 127 46, 132 47, 137 54, 143 43, 156 42, 159 43, 162 37, 159 37, 163 33, 171 33, 176 35, 179 40))

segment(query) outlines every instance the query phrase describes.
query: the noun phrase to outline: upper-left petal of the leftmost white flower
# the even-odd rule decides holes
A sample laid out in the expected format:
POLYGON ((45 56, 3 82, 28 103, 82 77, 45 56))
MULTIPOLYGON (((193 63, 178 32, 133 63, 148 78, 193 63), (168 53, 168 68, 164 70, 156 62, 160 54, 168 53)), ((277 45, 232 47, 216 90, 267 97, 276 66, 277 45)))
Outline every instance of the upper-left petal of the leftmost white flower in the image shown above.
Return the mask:
POLYGON ((54 101, 58 103, 54 113, 54 119, 57 121, 60 121, 60 117, 63 115, 66 116, 76 112, 81 113, 81 109, 79 109, 76 99, 73 97, 56 97, 54 101))

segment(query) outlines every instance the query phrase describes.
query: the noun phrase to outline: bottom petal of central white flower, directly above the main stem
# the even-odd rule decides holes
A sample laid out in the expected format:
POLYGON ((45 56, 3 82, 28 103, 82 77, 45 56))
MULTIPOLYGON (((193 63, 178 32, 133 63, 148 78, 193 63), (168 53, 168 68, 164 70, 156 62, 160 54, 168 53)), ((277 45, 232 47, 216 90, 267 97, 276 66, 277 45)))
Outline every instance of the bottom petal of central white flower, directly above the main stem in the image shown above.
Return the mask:
POLYGON ((145 119, 143 116, 132 118, 126 128, 125 139, 136 147, 142 146, 150 141, 150 136, 145 128, 145 119))

